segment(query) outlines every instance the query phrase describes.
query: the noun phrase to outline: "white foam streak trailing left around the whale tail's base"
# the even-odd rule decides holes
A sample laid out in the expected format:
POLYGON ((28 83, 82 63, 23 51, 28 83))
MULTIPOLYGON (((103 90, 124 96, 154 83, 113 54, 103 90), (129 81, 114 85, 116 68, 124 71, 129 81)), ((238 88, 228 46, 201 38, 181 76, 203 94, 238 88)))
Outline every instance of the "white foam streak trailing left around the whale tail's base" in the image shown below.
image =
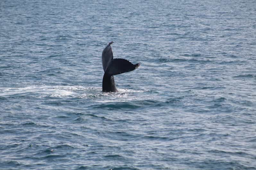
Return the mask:
POLYGON ((79 97, 90 98, 96 102, 113 102, 134 100, 134 93, 142 90, 118 89, 118 93, 103 93, 101 87, 84 86, 29 86, 21 88, 1 88, 0 96, 33 93, 38 97, 79 97))

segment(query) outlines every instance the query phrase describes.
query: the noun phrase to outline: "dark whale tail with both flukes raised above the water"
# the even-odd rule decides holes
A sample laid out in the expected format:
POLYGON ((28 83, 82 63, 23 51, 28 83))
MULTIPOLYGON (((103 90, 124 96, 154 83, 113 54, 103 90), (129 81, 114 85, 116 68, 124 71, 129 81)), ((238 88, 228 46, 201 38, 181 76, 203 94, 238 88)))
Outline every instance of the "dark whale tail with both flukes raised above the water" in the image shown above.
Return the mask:
POLYGON ((102 92, 118 92, 115 87, 114 75, 133 71, 141 65, 140 63, 132 64, 130 61, 123 58, 113 59, 113 52, 110 46, 112 43, 114 42, 111 41, 108 43, 101 55, 104 70, 102 92))

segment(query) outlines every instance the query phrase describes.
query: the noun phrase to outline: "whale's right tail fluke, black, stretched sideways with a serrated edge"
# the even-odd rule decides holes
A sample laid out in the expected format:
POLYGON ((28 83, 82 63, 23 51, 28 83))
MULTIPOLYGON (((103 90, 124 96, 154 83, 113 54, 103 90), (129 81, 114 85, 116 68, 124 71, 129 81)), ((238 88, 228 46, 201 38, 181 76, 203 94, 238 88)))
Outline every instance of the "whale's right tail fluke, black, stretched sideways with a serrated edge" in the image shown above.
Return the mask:
POLYGON ((115 58, 112 60, 112 62, 108 66, 106 73, 109 75, 122 74, 125 72, 130 72, 132 70, 135 70, 139 66, 140 66, 140 63, 132 64, 130 61, 126 59, 115 58))

